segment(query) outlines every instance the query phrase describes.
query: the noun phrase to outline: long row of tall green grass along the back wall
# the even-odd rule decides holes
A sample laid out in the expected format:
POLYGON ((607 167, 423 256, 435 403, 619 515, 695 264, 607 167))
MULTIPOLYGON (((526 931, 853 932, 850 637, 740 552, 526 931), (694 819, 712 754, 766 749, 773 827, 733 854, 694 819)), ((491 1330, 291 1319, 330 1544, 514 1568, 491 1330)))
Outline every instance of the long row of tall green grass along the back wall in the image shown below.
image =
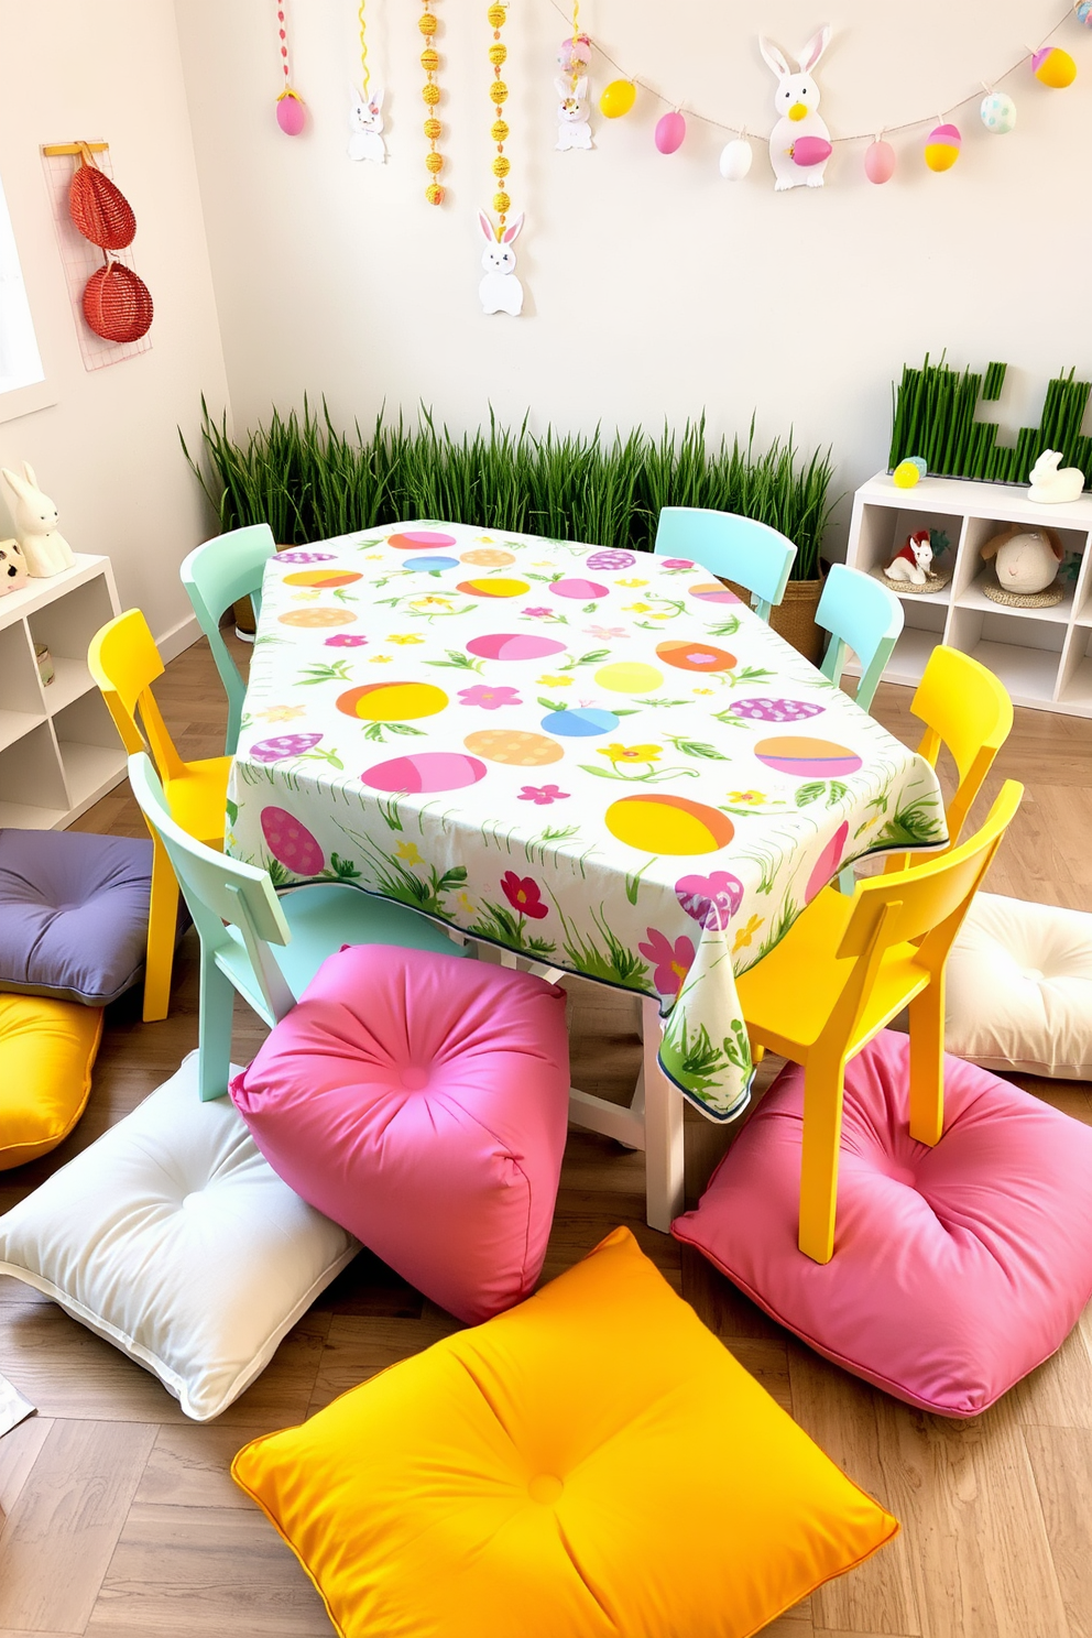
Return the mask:
POLYGON ((306 545, 398 519, 480 524, 496 532, 650 552, 661 506, 711 506, 756 518, 796 542, 797 580, 819 578, 819 549, 833 509, 830 450, 804 460, 792 436, 755 449, 706 442, 706 418, 660 439, 643 431, 607 441, 555 432, 537 437, 527 421, 457 437, 422 410, 416 426, 386 421, 370 432, 339 432, 323 414, 282 416, 246 441, 228 436, 201 398, 203 459, 185 457, 221 531, 268 523, 282 545, 306 545))

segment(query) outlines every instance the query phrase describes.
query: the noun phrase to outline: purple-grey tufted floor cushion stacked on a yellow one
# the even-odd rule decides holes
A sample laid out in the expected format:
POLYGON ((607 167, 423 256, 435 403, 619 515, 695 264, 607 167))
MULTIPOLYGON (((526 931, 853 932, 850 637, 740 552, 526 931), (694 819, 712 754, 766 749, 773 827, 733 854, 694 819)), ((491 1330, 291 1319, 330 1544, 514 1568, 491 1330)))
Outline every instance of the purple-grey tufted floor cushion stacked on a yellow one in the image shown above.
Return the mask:
POLYGON ((103 1007, 144 973, 152 844, 0 830, 0 989, 103 1007))

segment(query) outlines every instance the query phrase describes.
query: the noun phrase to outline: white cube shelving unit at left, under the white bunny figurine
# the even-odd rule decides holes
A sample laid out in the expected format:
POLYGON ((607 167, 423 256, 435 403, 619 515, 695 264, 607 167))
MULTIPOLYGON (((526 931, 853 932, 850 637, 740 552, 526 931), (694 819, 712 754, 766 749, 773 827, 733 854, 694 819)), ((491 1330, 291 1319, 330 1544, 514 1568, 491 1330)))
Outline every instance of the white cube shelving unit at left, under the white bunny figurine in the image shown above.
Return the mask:
POLYGON ((87 645, 121 613, 108 557, 0 598, 0 826, 61 830, 124 776, 124 749, 87 668, 87 645), (43 686, 34 644, 56 676, 43 686))

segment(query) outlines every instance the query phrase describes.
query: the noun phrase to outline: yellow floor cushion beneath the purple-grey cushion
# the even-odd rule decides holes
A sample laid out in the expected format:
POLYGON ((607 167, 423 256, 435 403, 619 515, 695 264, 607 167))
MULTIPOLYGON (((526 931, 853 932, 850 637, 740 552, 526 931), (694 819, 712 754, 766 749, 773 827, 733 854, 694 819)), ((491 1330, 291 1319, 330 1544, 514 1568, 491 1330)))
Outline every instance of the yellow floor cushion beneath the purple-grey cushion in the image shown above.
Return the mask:
POLYGON ((83 1114, 103 1009, 0 996, 0 1171, 62 1143, 83 1114))

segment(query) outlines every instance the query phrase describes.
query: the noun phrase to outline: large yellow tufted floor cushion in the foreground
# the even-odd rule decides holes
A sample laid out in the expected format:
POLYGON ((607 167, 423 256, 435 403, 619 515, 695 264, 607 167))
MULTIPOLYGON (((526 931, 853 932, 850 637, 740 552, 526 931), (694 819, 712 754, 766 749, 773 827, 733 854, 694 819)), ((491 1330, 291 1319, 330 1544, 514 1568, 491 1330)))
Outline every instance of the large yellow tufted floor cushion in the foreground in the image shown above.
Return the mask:
POLYGON ((899 1528, 627 1228, 231 1471, 342 1638, 745 1638, 899 1528))

